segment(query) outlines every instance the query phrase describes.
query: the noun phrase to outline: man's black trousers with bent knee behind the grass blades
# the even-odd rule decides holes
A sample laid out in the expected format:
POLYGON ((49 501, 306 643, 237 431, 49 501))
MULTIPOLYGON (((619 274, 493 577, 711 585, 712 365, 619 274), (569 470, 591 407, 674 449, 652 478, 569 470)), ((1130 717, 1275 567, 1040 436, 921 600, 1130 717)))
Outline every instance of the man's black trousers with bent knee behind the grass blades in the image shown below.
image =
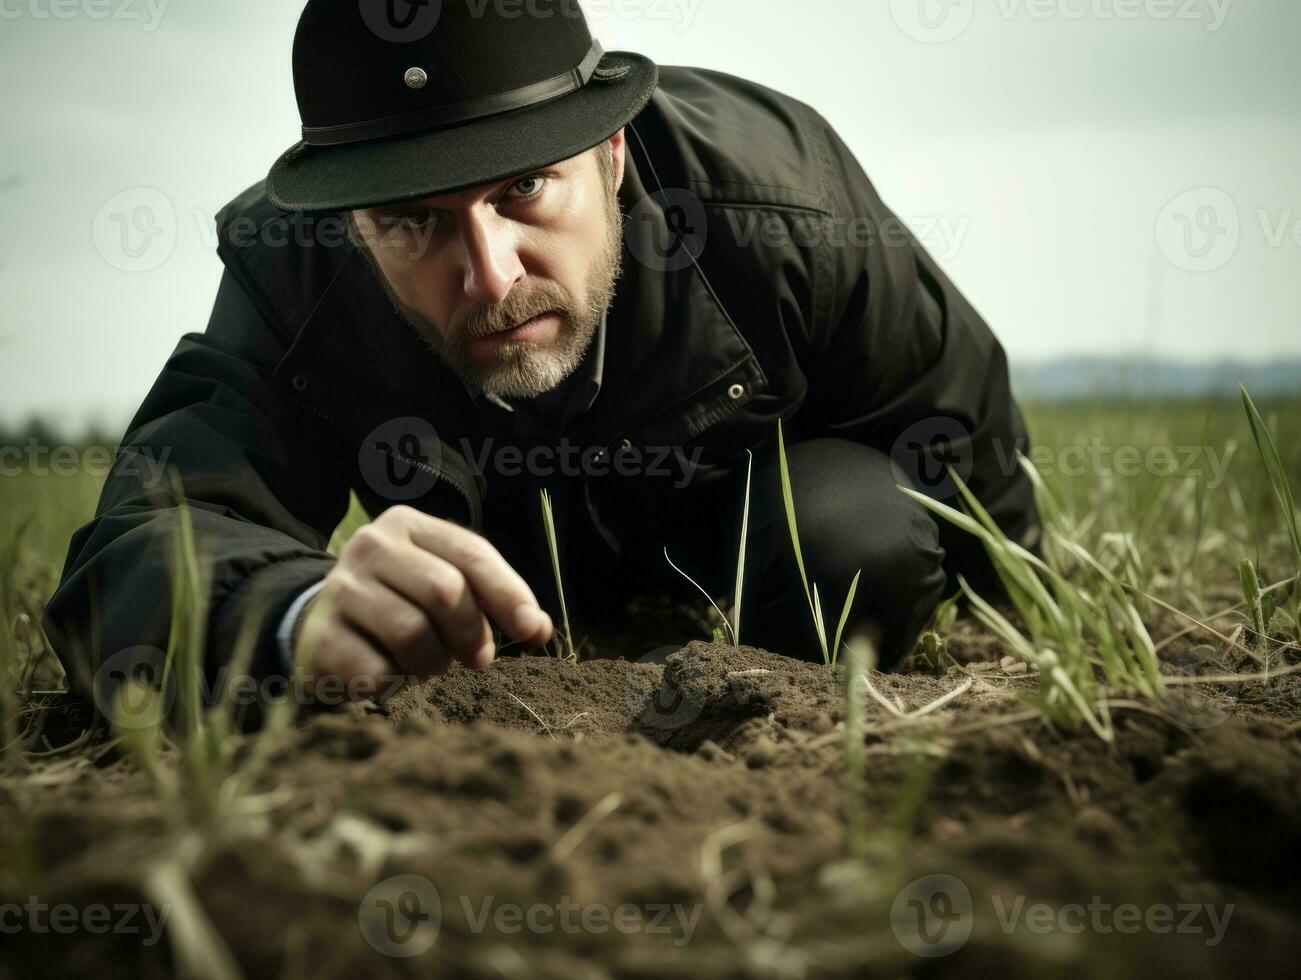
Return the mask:
MULTIPOLYGON (((838 439, 786 448, 800 549, 809 590, 817 584, 827 644, 855 574, 844 636, 866 630, 887 666, 908 653, 945 595, 947 575, 939 530, 929 513, 900 493, 908 483, 890 457, 838 439)), ((703 600, 665 561, 673 561, 712 596, 731 596, 745 492, 745 467, 714 506, 693 506, 653 540, 631 548, 621 564, 579 564, 579 606, 595 617, 614 613, 628 595, 703 600)), ((569 574, 566 574, 569 578, 569 574)), ((566 590, 569 586, 566 583, 566 590)), ((550 604, 546 604, 550 606, 550 604)), ((575 603, 570 603, 571 617, 575 603)), ((617 618, 617 614, 615 614, 617 618)), ((605 625, 609 625, 606 622, 605 625)), ((583 627, 574 623, 575 631, 583 627)), ((777 653, 821 660, 817 630, 804 592, 782 498, 775 444, 756 454, 751 484, 740 642, 777 653)))

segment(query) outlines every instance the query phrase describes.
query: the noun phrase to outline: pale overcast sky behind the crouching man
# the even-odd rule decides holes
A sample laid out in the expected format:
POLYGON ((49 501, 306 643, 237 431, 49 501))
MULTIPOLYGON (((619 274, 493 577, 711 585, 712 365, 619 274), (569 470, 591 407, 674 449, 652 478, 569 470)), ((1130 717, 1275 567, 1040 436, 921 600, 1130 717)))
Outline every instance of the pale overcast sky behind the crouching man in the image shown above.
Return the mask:
MULTIPOLYGON (((1013 358, 1301 354, 1296 0, 584 5, 822 111, 1013 358)), ((117 429, 204 328, 212 216, 295 141, 301 8, 0 0, 0 422, 117 429)))

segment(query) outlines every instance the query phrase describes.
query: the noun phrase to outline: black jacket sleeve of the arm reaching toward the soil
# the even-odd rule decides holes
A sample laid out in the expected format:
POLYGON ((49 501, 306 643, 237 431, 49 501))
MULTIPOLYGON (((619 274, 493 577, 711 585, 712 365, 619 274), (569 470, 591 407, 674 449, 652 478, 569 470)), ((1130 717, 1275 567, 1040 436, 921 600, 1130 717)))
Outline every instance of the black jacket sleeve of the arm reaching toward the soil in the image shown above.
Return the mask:
POLYGON ((272 376, 286 344, 226 271, 207 332, 181 338, 130 423, 47 605, 74 691, 92 696, 95 672, 120 651, 167 649, 180 513, 172 472, 211 575, 209 682, 246 621, 258 638, 252 673, 280 673, 276 627, 333 566, 325 548, 350 483, 340 439, 272 376))

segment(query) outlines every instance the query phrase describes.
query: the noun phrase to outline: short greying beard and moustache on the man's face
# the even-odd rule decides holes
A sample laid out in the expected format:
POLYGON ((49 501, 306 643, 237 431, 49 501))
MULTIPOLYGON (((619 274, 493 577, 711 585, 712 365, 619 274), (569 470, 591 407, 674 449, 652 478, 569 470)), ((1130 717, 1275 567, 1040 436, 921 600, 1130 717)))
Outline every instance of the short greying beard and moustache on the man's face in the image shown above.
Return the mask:
POLYGON ((403 303, 373 256, 364 247, 362 251, 397 312, 466 385, 498 398, 532 398, 552 390, 578 368, 614 299, 614 285, 623 267, 623 212, 610 182, 605 184, 605 190, 606 234, 588 272, 585 302, 570 295, 556 281, 524 279, 502 302, 476 303, 457 314, 446 329, 440 329, 424 314, 403 303), (477 361, 466 350, 472 338, 513 329, 543 314, 556 314, 559 319, 556 340, 545 347, 532 341, 500 341, 493 345, 488 361, 477 361))

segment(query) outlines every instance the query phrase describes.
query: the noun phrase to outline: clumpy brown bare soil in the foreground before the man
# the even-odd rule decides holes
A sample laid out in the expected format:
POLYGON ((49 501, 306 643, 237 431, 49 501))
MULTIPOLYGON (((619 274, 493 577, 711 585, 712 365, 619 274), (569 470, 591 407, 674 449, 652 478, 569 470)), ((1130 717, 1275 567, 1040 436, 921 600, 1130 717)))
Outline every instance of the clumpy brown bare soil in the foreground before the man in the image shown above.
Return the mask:
MULTIPOLYGON (((1023 701, 1037 679, 969 623, 950 652, 943 673, 873 675, 895 708, 866 704, 855 858, 843 669, 692 642, 502 657, 303 717, 245 815, 191 854, 193 892, 250 976, 1294 968, 1301 674, 1180 688, 1164 711, 1120 692, 1107 744, 1047 728, 1023 701)), ((1168 657, 1232 668, 1254 669, 1168 657)), ((121 746, 82 735, 0 786, 0 906, 156 901, 142 869, 186 828, 121 746)), ((0 949, 13 976, 183 966, 174 942, 121 931, 22 928, 0 949)))

